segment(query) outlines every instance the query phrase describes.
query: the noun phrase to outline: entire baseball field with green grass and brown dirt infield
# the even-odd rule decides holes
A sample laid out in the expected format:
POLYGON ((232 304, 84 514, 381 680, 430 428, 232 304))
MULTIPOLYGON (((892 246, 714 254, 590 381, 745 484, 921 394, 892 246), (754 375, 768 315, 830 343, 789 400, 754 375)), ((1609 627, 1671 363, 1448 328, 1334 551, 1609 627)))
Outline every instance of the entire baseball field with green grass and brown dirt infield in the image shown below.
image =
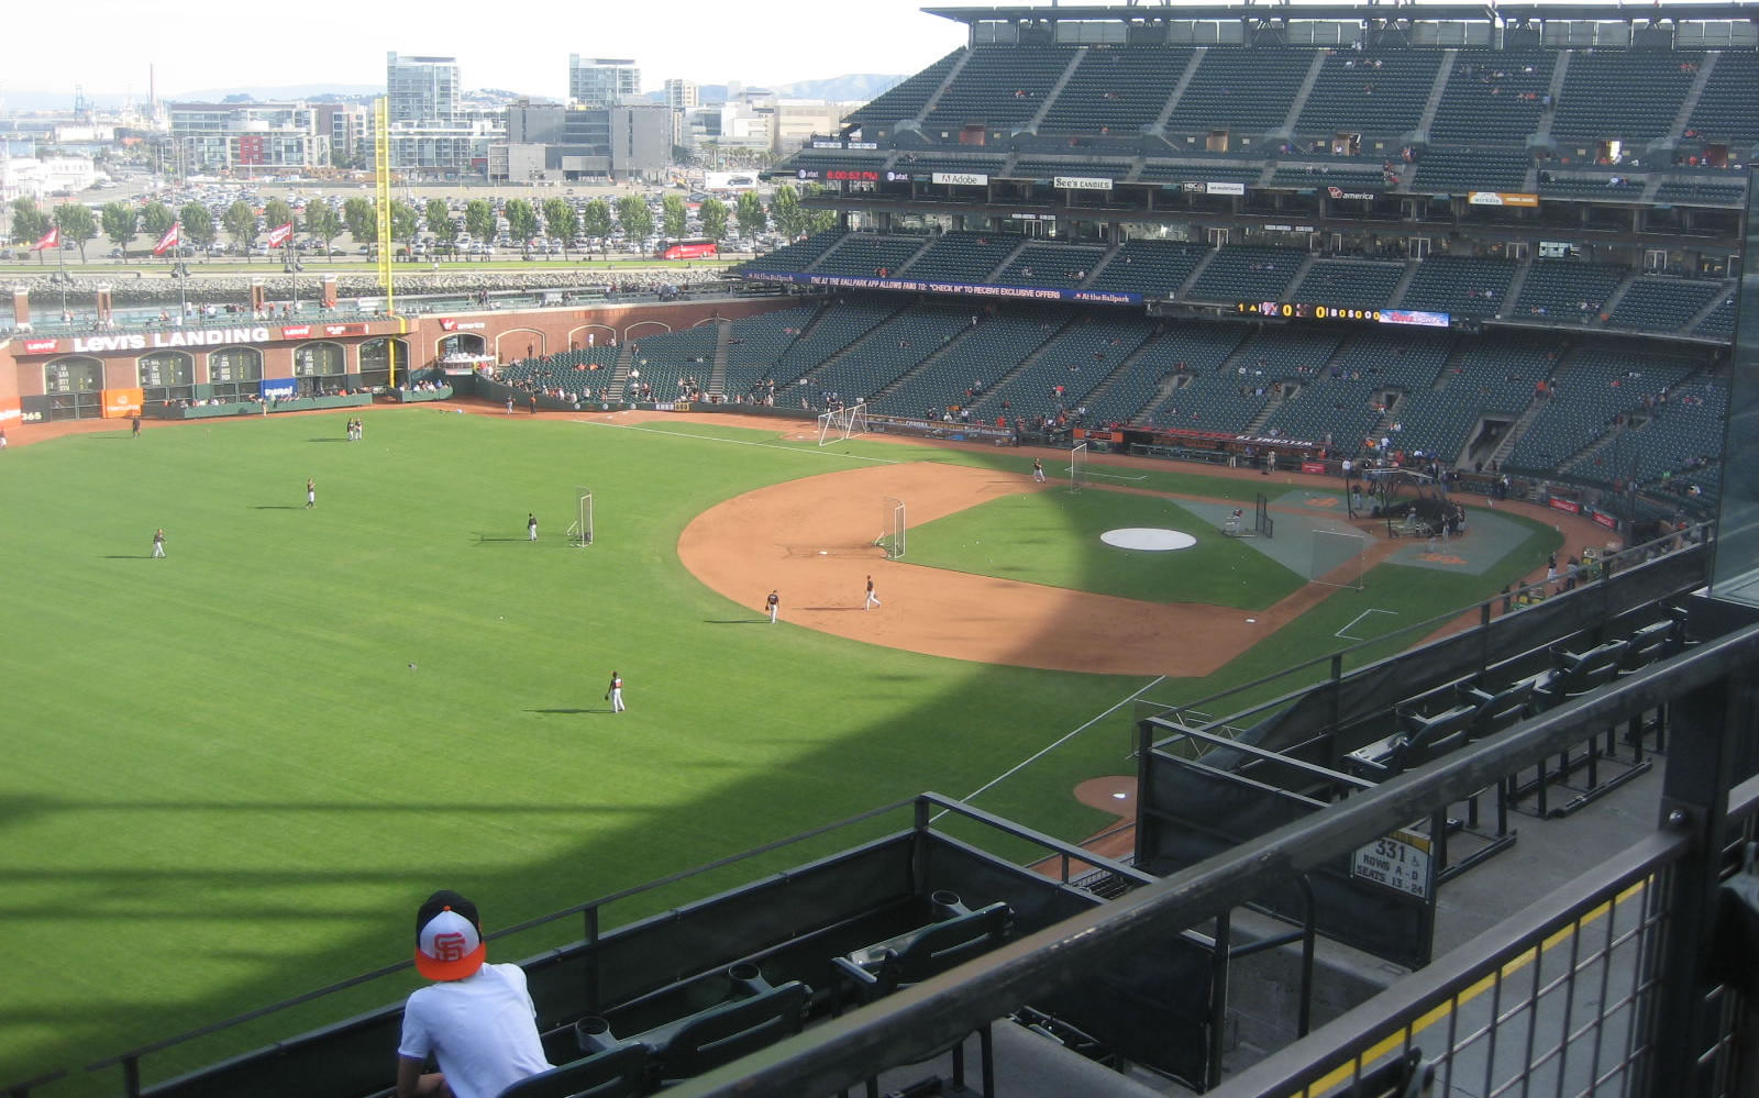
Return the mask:
MULTIPOLYGON (((1309 582, 1302 531, 1337 498, 1298 479, 1096 463, 1071 493, 1052 452, 1034 486, 1018 450, 818 447, 753 421, 426 406, 366 412, 348 442, 345 419, 0 454, 0 1086, 405 959, 436 887, 494 929, 922 790, 982 788, 1078 841, 1112 824, 1071 790, 1129 772, 1129 699, 1372 640, 1562 538, 1474 510, 1479 544, 1407 560, 1421 545, 1374 540, 1353 589, 1309 582), (565 537, 577 486, 586 547, 565 537), (1275 544, 1223 538, 1256 493, 1275 544), (902 560, 874 545, 887 498, 908 507, 902 560), (1196 545, 1099 540, 1129 526, 1196 545)), ((155 1058, 150 1079, 410 985, 155 1058)), ((44 1093, 95 1089, 77 1075, 44 1093)))

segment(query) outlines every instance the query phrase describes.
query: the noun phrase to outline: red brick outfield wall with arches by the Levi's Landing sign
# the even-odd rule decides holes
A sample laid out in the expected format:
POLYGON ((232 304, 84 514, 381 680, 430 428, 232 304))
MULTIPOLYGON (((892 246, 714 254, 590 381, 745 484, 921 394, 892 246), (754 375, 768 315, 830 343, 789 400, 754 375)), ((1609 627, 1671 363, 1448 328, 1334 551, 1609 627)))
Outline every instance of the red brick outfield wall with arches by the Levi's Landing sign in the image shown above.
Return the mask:
MULTIPOLYGON (((797 303, 799 301, 793 297, 725 297, 679 303, 607 303, 586 308, 545 308, 526 311, 484 310, 473 313, 424 313, 408 318, 410 331, 401 336, 408 347, 408 362, 403 362, 403 366, 422 368, 433 364, 440 357, 440 341, 447 336, 478 336, 484 341, 484 354, 500 355, 503 361, 514 361, 531 354, 563 352, 568 350, 570 345, 586 347, 588 334, 591 334, 598 345, 605 345, 612 338, 621 345, 631 338, 639 340, 658 333, 688 329, 712 320, 756 317, 779 308, 790 308, 797 303)), ((299 324, 306 322, 310 322, 310 317, 299 318, 299 324)), ((267 327, 271 334, 278 334, 283 327, 280 322, 257 324, 248 317, 239 318, 239 327, 259 326, 267 327)), ((292 377, 294 348, 313 341, 343 345, 348 373, 359 373, 359 345, 382 338, 383 331, 389 331, 389 327, 383 322, 376 322, 373 324, 375 334, 368 336, 339 336, 331 340, 322 336, 315 340, 271 340, 266 343, 252 343, 252 347, 262 352, 264 378, 292 377)), ((42 333, 37 338, 47 336, 49 333, 42 333)), ((62 347, 72 345, 72 340, 65 336, 58 341, 62 347)), ((236 347, 236 343, 232 347, 236 347)), ((211 380, 208 373, 208 355, 211 350, 220 348, 186 347, 178 350, 195 359, 193 384, 208 384, 211 380)), ((5 401, 16 401, 21 396, 42 396, 42 366, 55 359, 67 357, 69 354, 72 352, 25 354, 25 338, 21 336, 12 336, 5 343, 0 343, 0 406, 4 406, 5 401)), ((141 355, 153 352, 106 350, 79 354, 104 362, 106 389, 132 389, 139 384, 135 366, 141 355)), ((4 422, 0 422, 0 426, 4 426, 4 422)))

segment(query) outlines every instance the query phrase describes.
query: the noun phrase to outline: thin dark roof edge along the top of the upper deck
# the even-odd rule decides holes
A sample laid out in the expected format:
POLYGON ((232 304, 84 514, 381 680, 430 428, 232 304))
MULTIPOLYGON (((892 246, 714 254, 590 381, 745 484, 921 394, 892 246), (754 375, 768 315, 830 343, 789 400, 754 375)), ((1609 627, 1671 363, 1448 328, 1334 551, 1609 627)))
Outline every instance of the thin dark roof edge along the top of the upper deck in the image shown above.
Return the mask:
POLYGON ((1087 19, 1483 19, 1492 23, 1676 23, 1680 19, 1747 19, 1759 23, 1755 4, 1170 4, 1142 0, 1117 5, 925 7, 955 23, 1087 21, 1087 19))

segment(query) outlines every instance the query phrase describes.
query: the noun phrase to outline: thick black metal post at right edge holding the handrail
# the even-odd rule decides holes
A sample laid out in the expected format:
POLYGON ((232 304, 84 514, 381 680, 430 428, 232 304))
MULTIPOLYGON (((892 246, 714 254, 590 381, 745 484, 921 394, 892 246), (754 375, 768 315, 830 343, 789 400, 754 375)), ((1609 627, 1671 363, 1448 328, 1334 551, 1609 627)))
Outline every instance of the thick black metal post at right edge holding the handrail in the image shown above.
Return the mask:
POLYGON ((1666 922, 1657 941, 1657 1001, 1648 1015, 1655 1024, 1650 1042, 1655 1058, 1643 1094, 1708 1093, 1703 1084, 1710 1065, 1699 1056, 1715 1040, 1720 1014, 1706 1003, 1706 991, 1720 982, 1710 957, 1712 920, 1738 739, 1750 736, 1755 714, 1759 688, 1741 683, 1740 670, 1671 702, 1662 827, 1692 836, 1692 846, 1673 866, 1666 892, 1657 897, 1666 922))

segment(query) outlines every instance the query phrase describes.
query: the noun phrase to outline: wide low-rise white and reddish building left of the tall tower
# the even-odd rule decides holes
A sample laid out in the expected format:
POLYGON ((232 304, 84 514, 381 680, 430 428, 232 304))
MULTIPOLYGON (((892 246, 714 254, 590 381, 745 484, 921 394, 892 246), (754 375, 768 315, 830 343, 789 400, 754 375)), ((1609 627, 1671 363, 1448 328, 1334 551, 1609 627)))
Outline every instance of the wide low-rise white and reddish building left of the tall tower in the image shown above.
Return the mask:
POLYGON ((311 104, 171 104, 171 141, 188 172, 329 167, 331 134, 311 104))

